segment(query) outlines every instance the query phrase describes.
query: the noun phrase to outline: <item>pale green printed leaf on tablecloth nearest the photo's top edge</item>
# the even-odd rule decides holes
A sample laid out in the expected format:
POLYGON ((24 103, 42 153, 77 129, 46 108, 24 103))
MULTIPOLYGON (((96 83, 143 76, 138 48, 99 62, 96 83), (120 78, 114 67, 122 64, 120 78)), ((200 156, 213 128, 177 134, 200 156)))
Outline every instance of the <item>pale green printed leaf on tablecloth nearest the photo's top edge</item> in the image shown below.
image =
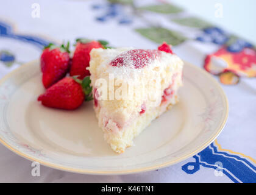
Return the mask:
POLYGON ((139 10, 147 10, 150 12, 157 12, 157 13, 179 13, 183 10, 180 7, 177 7, 172 4, 159 4, 159 5, 146 5, 144 7, 139 7, 139 10))

